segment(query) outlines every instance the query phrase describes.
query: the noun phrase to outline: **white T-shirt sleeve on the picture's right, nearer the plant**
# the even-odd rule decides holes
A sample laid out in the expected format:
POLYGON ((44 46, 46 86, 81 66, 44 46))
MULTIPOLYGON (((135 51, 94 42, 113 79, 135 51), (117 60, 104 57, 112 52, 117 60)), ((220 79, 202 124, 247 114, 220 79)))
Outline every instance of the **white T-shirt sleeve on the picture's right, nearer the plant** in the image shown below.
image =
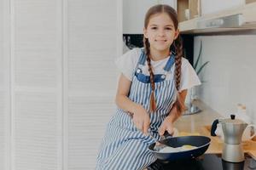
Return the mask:
POLYGON ((179 92, 184 89, 193 88, 201 84, 199 77, 197 76, 194 68, 190 65, 188 59, 182 60, 182 76, 180 82, 179 92))

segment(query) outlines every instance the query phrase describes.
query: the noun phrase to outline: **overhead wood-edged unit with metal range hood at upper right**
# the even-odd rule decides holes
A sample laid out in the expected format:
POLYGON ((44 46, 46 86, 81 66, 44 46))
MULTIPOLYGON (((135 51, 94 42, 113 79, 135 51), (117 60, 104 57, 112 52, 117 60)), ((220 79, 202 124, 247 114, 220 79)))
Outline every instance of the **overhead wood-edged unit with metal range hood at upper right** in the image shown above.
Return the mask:
POLYGON ((255 8, 256 3, 248 3, 218 13, 203 14, 201 17, 180 22, 179 28, 182 34, 255 30, 255 8), (233 20, 235 26, 225 26, 225 20, 228 18, 233 20))

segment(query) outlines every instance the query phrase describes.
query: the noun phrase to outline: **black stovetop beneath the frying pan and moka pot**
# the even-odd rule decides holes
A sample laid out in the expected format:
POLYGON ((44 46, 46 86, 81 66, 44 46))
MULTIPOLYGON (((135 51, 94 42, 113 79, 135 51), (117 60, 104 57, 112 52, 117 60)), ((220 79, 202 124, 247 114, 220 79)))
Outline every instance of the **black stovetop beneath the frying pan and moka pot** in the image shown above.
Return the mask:
POLYGON ((160 170, 247 170, 244 161, 231 163, 223 161, 220 156, 206 154, 193 160, 159 161, 160 170))

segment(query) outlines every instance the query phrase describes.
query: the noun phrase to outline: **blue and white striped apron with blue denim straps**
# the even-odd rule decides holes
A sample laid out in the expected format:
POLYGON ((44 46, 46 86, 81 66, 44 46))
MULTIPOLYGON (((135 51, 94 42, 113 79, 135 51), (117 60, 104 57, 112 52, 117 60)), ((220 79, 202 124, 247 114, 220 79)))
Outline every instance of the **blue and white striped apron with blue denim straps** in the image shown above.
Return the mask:
POLYGON ((172 74, 171 68, 175 62, 174 55, 170 55, 164 67, 164 74, 154 75, 156 111, 149 113, 149 96, 151 93, 150 78, 143 74, 141 65, 145 65, 146 54, 142 54, 137 63, 131 82, 129 99, 143 105, 150 117, 148 132, 154 137, 144 135, 132 122, 127 112, 117 109, 108 123, 107 133, 96 162, 96 170, 140 170, 148 167, 156 157, 148 150, 148 145, 160 139, 158 128, 171 111, 176 100, 177 89, 175 80, 166 80, 167 74, 172 74))

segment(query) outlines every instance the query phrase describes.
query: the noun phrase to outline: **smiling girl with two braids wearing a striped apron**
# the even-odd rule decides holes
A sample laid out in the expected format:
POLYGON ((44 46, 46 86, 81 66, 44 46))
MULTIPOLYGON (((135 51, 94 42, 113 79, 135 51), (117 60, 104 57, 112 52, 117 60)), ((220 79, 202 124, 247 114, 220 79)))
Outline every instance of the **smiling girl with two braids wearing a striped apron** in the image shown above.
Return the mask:
MULTIPOLYGON (((144 48, 116 60, 121 71, 118 109, 108 123, 96 169, 141 170, 156 158, 148 145, 167 131, 184 110, 188 88, 201 82, 187 59, 177 29, 176 11, 167 5, 148 9, 144 48)), ((148 167, 150 169, 150 167, 148 167)))

